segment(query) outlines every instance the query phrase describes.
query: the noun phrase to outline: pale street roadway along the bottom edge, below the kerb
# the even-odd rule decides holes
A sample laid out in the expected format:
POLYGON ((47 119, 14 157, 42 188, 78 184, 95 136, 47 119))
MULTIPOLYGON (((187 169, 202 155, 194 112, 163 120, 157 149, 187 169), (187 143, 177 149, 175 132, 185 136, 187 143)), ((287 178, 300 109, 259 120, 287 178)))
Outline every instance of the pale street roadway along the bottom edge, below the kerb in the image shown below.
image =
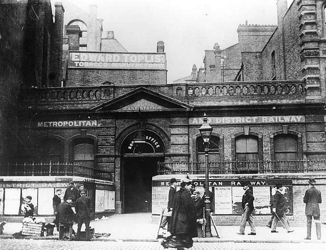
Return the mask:
MULTIPOLYGON (((130 242, 130 241, 58 241, 58 240, 28 240, 28 239, 1 239, 2 250, 164 250, 159 242, 130 242)), ((175 249, 175 248, 169 248, 175 249)), ((326 249, 322 243, 245 243, 245 242, 196 242, 191 250, 263 250, 263 249, 326 249)))

